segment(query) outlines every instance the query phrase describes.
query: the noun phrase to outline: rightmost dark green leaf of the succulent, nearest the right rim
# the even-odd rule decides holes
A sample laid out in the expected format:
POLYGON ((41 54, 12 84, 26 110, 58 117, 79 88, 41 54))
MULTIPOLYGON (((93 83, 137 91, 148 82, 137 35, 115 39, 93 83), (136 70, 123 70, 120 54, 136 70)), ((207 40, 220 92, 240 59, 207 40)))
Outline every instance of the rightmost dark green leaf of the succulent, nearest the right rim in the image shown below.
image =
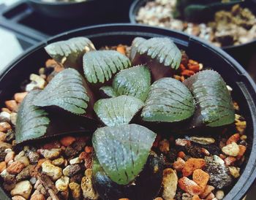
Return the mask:
POLYGON ((204 70, 184 81, 197 108, 191 126, 224 126, 233 123, 235 112, 227 85, 218 72, 204 70))

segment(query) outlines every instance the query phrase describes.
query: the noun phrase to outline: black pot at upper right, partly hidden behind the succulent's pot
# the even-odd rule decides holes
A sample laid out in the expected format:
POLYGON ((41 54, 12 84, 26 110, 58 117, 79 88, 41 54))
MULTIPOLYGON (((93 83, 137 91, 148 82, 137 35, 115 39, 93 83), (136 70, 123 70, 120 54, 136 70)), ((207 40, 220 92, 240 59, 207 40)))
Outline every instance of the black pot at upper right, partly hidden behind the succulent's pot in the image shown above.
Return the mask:
MULTIPOLYGON (((136 15, 140 9, 143 7, 146 2, 153 0, 135 0, 130 9, 129 9, 129 20, 130 23, 137 23, 136 15)), ((244 1, 241 4, 242 7, 248 7, 256 15, 256 1, 244 1)), ((251 42, 247 42, 243 45, 232 45, 222 47, 225 52, 229 53, 233 58, 236 59, 244 68, 246 69, 249 65, 249 61, 252 58, 252 55, 256 53, 256 39, 251 42)))

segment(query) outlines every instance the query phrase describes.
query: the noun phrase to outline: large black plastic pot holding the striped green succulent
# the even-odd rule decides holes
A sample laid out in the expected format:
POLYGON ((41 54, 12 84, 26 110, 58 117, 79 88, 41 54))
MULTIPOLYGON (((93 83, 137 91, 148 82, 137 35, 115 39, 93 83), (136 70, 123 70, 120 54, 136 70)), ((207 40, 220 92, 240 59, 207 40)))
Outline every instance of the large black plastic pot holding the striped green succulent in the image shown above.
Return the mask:
MULTIPOLYGON (((12 98, 15 92, 20 91, 21 82, 28 79, 29 74, 37 73, 38 69, 44 66, 45 60, 49 58, 44 50, 45 45, 75 36, 87 36, 97 48, 120 43, 130 45, 135 36, 145 38, 168 36, 176 42, 179 48, 186 50, 190 58, 200 61, 205 66, 211 66, 219 72, 227 84, 233 88, 233 99, 238 101, 241 113, 246 118, 246 135, 249 143, 246 160, 241 166, 241 177, 227 193, 225 199, 241 199, 246 194, 256 177, 256 85, 249 74, 230 55, 193 36, 163 28, 131 24, 92 26, 55 36, 26 51, 1 72, 0 105, 3 105, 5 100, 12 98)), ((1 188, 0 199, 8 199, 1 188)))

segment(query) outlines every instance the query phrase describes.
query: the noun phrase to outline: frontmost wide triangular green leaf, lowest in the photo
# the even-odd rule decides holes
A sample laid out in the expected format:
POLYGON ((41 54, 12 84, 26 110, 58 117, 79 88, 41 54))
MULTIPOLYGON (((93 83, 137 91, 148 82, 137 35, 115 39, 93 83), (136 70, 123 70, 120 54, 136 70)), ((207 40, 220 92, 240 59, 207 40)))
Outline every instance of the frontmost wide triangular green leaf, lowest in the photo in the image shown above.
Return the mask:
POLYGON ((146 164, 156 134, 137 124, 98 128, 92 144, 99 164, 111 180, 127 185, 146 164))

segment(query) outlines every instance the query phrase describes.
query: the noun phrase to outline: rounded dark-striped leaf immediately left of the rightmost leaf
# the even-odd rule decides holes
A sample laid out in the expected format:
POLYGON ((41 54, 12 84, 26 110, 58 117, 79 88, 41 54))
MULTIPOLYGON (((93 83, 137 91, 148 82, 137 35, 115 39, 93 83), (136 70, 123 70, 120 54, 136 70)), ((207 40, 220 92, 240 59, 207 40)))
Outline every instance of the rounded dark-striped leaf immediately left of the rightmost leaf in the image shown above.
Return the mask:
POLYGON ((162 78, 151 85, 141 116, 151 122, 178 122, 195 111, 192 94, 178 80, 162 78))

